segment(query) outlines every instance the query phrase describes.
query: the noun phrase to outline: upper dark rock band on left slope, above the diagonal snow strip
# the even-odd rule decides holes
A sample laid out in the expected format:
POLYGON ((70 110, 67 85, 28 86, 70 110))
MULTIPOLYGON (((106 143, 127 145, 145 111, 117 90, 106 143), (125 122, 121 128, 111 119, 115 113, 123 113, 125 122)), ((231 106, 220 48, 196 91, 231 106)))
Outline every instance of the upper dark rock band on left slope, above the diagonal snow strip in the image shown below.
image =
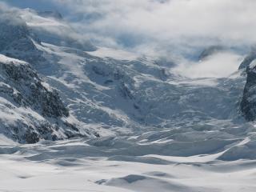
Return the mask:
POLYGON ((17 97, 14 102, 18 105, 33 106, 34 110, 38 110, 38 113, 49 118, 69 115, 58 93, 42 86, 42 79, 28 64, 0 62, 0 70, 3 72, 1 81, 8 83, 12 90, 15 90, 17 97))

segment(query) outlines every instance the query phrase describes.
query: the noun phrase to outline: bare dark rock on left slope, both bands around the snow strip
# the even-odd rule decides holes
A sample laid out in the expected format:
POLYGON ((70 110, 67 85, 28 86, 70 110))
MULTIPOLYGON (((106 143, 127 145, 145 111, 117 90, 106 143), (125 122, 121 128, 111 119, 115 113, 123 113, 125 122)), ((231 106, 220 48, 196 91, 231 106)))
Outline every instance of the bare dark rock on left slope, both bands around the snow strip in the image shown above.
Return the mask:
MULTIPOLYGON (((44 116, 45 120, 40 120, 29 115, 28 124, 18 118, 14 122, 14 126, 0 122, 5 127, 5 133, 10 135, 17 142, 34 143, 39 139, 56 140, 59 139, 55 131, 60 131, 58 123, 62 128, 70 129, 69 137, 79 134, 77 127, 71 123, 62 123, 61 118, 69 116, 69 110, 66 108, 56 90, 49 90, 43 86, 42 78, 40 78, 35 70, 25 62, 0 62, 0 97, 6 98, 12 105, 6 108, 13 110, 15 107, 25 107, 34 110, 39 115, 44 116), (14 106, 13 106, 14 105, 14 106), (50 121, 47 121, 49 118, 50 121), (55 122, 55 123, 54 123, 55 122)), ((24 118, 22 116, 22 118, 24 118)), ((2 126, 0 128, 2 128, 2 126)))

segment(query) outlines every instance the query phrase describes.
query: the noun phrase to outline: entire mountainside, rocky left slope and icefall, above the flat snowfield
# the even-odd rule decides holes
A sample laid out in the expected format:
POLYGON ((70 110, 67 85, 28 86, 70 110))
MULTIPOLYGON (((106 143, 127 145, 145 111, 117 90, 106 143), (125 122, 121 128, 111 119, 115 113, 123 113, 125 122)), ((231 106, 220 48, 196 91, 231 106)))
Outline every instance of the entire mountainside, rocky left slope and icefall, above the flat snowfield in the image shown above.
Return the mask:
POLYGON ((48 26, 62 27, 62 21, 51 19, 42 26, 38 21, 2 22, 0 51, 7 57, 0 60, 0 134, 31 143, 186 127, 236 115, 234 103, 244 82, 222 79, 208 86, 197 80, 190 85, 191 79, 172 73, 171 60, 100 47, 85 52, 68 39, 62 44, 63 37, 52 34, 55 28, 47 32, 48 26))

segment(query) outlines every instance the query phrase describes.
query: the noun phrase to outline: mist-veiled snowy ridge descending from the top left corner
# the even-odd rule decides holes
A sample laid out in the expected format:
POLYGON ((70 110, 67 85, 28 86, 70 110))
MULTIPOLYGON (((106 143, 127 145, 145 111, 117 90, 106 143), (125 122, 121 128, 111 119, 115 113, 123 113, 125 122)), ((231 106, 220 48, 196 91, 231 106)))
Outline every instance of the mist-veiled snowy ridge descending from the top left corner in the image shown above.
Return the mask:
POLYGON ((51 17, 51 12, 45 13, 42 17, 35 10, 19 9, 0 2, 0 22, 7 23, 7 25, 25 26, 33 31, 30 33, 31 35, 36 34, 42 42, 71 46, 87 51, 95 50, 86 35, 77 33, 68 22, 51 17), (46 17, 47 14, 50 14, 50 17, 46 17))

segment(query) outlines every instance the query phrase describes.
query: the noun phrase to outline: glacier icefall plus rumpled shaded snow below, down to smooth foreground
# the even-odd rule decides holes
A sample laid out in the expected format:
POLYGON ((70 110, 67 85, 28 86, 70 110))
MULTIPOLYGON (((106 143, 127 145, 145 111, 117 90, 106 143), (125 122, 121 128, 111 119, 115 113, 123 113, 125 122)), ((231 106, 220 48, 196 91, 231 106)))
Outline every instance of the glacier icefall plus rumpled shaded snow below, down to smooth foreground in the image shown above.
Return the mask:
MULTIPOLYGON (((172 74, 152 58, 128 59, 126 53, 117 59, 106 57, 106 49, 36 46, 49 61, 38 72, 58 89, 81 127, 101 137, 89 145, 111 149, 112 160, 155 162, 141 158, 149 154, 219 154, 216 159, 232 160, 233 150, 254 141, 254 126, 240 112, 246 78, 239 73, 191 79, 172 74), (251 142, 242 143, 246 139, 251 142)), ((254 158, 246 150, 239 155, 254 158)))

